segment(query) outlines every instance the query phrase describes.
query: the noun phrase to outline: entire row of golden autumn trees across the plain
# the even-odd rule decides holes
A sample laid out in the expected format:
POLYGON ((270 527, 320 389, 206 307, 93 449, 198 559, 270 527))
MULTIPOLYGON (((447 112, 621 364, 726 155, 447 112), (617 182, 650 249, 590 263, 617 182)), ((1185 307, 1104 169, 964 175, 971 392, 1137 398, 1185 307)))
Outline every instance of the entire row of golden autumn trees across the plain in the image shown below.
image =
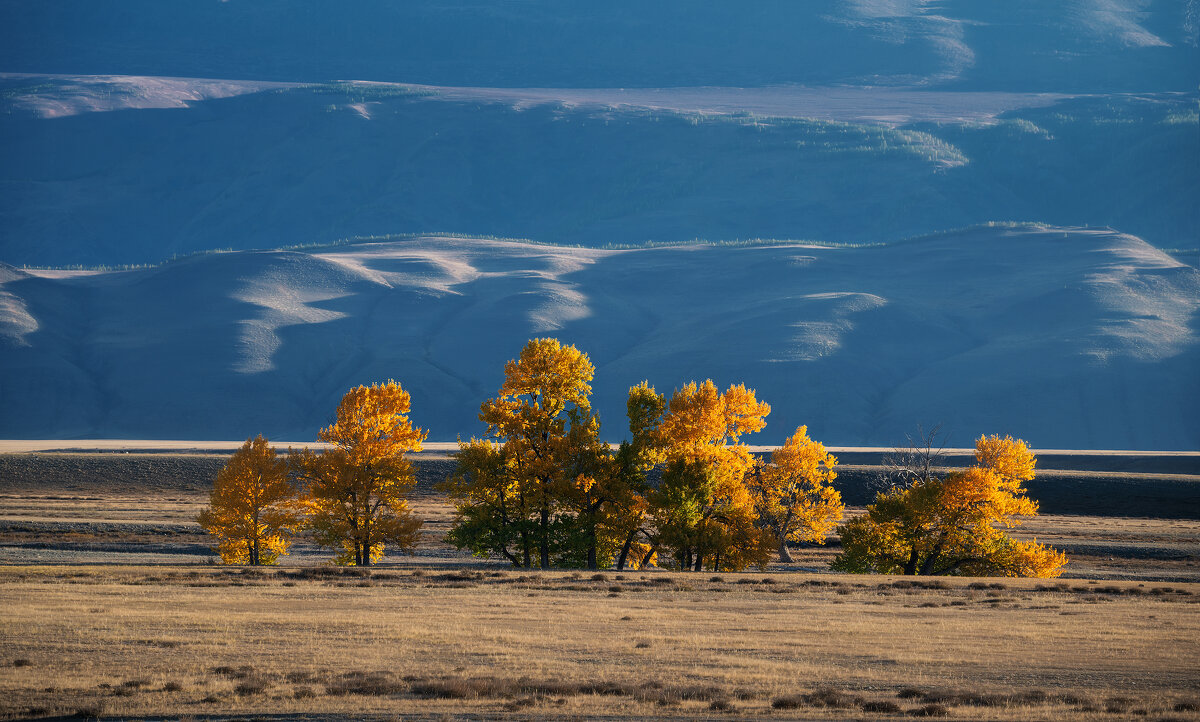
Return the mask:
MULTIPOLYGON (((754 390, 686 384, 667 398, 647 383, 629 390, 629 438, 600 440, 592 410, 595 367, 572 345, 530 341, 480 407, 482 439, 460 441, 439 485, 455 504, 449 541, 520 567, 739 571, 764 567, 790 542, 823 543, 842 518, 833 487, 838 459, 799 427, 769 459, 743 437, 770 407, 754 390)), ((415 546, 421 519, 408 509, 408 451, 425 432, 408 419, 398 384, 359 386, 318 434, 323 451, 277 458, 247 440, 217 477, 200 524, 229 564, 271 564, 307 528, 338 564, 370 565, 385 544, 415 546)), ((1066 556, 1006 534, 1037 503, 1022 483, 1034 458, 1012 438, 980 438, 977 464, 944 475, 926 463, 881 492, 866 513, 838 528, 834 568, 905 574, 1052 577, 1066 556)))

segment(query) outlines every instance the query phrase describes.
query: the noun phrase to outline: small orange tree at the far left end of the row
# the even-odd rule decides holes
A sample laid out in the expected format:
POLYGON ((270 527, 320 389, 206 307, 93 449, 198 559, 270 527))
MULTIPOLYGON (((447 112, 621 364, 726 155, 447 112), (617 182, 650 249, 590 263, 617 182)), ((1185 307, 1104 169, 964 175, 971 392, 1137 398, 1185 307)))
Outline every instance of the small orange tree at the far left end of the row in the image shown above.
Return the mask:
POLYGON ((275 564, 300 525, 288 463, 262 435, 246 439, 217 473, 197 522, 217 537, 222 562, 275 564))

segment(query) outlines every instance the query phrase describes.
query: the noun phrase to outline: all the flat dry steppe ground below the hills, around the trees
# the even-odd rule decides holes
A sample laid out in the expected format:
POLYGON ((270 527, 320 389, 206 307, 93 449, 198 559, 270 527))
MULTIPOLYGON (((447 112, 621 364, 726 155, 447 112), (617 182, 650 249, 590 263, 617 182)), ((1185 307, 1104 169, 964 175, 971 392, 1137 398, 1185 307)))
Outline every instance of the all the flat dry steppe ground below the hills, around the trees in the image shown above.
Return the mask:
MULTIPOLYGON (((0 715, 1200 718, 1181 469, 1044 473, 1043 509, 1088 513, 1022 528, 1068 550, 1062 579, 913 580, 828 573, 832 547, 721 574, 470 559, 442 541, 438 453, 416 554, 223 568, 192 519, 224 458, 0 455, 0 715)), ((869 476, 846 469, 848 500, 869 476)))

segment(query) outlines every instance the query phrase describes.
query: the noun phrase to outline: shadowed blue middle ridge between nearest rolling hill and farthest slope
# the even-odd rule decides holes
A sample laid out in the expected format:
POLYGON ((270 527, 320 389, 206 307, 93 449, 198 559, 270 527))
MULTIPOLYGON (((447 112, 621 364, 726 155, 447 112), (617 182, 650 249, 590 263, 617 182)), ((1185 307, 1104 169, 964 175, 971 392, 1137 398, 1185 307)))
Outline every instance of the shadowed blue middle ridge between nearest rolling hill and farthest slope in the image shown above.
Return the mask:
POLYGON ((1195 92, 0 79, 0 261, 452 231, 876 242, 989 221, 1200 239, 1195 92))

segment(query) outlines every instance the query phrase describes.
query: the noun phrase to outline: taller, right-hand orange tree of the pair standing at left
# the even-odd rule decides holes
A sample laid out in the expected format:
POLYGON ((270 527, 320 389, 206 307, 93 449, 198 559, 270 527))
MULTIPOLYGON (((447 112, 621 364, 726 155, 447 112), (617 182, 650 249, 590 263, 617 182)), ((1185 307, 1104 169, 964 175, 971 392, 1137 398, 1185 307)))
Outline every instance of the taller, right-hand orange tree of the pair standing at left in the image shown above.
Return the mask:
POLYGON ((340 550, 338 564, 370 566, 385 544, 416 546, 422 519, 408 507, 415 476, 404 455, 421 450, 426 432, 413 426, 409 408, 408 392, 391 380, 350 389, 335 422, 317 434, 331 447, 292 455, 307 482, 308 523, 318 543, 340 550))

